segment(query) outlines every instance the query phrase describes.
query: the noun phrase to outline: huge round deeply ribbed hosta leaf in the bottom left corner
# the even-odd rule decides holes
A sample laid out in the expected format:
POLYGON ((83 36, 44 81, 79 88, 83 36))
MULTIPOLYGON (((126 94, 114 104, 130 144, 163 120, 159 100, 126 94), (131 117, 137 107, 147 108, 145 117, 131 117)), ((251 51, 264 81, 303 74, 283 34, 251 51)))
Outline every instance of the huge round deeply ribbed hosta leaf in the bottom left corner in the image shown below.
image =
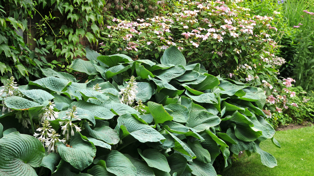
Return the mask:
POLYGON ((0 175, 37 175, 45 156, 42 143, 33 136, 12 132, 0 139, 0 175), (34 167, 34 168, 32 168, 34 167))

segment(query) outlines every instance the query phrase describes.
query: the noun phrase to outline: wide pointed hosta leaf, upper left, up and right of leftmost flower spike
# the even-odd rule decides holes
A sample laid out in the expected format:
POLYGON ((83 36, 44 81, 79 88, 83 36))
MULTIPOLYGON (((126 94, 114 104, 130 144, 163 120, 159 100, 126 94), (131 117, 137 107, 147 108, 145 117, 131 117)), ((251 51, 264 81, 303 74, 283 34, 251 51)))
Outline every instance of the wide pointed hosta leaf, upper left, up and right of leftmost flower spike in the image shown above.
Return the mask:
POLYGON ((64 80, 56 77, 46 77, 39 80, 30 81, 29 85, 37 85, 42 88, 47 88, 51 91, 62 92, 66 90, 68 85, 71 85, 72 82, 69 80, 64 80))

